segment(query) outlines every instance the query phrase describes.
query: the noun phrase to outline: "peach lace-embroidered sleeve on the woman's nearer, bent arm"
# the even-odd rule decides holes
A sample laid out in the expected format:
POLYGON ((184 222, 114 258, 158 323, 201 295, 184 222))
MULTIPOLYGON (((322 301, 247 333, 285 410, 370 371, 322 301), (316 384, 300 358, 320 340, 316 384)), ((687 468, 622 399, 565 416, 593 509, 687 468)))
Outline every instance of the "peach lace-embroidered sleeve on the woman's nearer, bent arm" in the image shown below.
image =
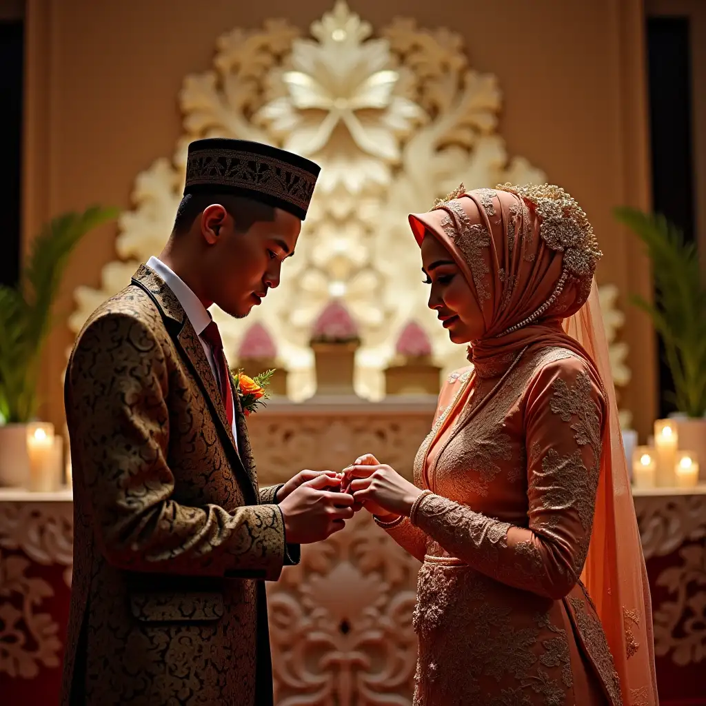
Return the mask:
POLYGON ((605 414, 585 361, 547 364, 525 397, 528 527, 436 495, 415 517, 452 556, 508 585, 562 598, 580 577, 590 542, 605 414))

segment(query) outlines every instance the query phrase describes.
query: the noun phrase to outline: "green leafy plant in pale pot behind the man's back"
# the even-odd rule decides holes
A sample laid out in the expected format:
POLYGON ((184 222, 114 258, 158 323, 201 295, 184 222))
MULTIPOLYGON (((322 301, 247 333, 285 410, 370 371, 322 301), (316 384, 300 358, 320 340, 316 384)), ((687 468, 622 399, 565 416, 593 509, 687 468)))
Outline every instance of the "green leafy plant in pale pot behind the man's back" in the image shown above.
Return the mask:
POLYGON ((18 286, 0 286, 0 485, 20 486, 28 477, 26 425, 37 413, 42 345, 68 257, 86 233, 116 215, 92 206, 54 218, 32 242, 18 286))

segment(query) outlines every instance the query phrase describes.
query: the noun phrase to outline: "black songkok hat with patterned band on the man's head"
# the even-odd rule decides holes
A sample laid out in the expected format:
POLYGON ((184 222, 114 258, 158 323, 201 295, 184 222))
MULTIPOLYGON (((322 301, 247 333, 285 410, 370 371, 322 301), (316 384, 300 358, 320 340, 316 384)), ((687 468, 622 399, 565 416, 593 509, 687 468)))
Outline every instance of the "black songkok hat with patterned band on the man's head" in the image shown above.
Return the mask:
POLYGON ((321 167, 294 152, 247 140, 208 138, 189 145, 188 193, 232 193, 304 220, 321 167))

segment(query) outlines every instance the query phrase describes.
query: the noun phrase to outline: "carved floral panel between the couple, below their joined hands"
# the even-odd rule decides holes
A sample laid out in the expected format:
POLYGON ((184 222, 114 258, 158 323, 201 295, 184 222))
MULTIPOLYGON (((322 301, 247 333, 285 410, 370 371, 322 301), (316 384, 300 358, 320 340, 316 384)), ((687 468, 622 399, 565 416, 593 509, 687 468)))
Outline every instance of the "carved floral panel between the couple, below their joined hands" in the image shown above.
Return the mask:
POLYGON ((418 567, 368 513, 303 547, 268 585, 277 704, 409 704, 418 567))

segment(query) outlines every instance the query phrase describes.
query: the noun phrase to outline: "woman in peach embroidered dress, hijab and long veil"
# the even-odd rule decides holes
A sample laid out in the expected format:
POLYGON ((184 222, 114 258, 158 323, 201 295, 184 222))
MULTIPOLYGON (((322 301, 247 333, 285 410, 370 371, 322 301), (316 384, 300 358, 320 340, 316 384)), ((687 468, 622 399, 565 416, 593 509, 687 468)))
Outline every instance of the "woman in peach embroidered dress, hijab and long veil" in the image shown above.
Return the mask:
POLYGON ((409 222, 472 365, 443 385, 414 484, 371 455, 344 473, 424 562, 414 704, 657 705, 585 213, 556 186, 461 187, 409 222))

